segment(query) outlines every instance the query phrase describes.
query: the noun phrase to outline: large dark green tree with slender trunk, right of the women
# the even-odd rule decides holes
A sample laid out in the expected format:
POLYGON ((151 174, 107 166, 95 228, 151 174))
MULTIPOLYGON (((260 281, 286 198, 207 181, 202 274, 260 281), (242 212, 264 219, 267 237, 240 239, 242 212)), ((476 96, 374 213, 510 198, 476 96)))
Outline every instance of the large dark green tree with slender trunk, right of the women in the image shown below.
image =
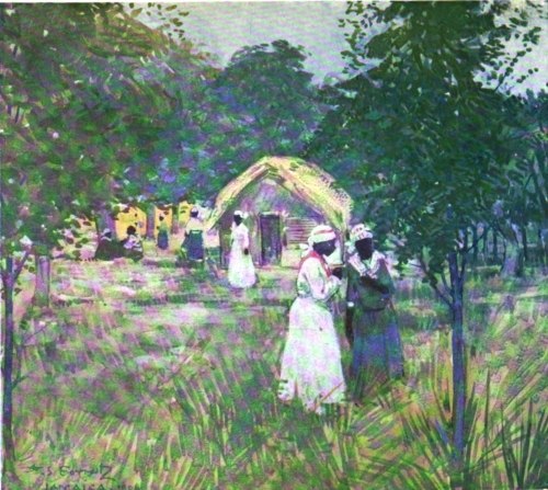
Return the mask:
MULTIPOLYGON (((499 88, 512 77, 504 43, 535 43, 510 3, 349 3, 349 80, 326 94, 333 106, 308 148, 356 197, 380 237, 396 235, 403 263, 424 281, 453 323, 452 485, 463 485, 467 426, 466 230, 492 217, 500 175, 515 149, 499 88)), ((520 56, 520 55, 516 55, 520 56)))

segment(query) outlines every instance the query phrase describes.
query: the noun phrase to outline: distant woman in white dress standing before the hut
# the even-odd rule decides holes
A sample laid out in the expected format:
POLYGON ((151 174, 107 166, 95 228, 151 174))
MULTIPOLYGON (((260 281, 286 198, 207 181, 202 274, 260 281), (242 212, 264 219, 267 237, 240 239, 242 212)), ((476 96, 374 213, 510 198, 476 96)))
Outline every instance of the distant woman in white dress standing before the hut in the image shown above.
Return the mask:
POLYGON ((251 287, 256 282, 255 267, 249 253, 249 229, 242 221, 243 213, 241 210, 235 212, 230 235, 228 282, 232 287, 238 288, 251 287))

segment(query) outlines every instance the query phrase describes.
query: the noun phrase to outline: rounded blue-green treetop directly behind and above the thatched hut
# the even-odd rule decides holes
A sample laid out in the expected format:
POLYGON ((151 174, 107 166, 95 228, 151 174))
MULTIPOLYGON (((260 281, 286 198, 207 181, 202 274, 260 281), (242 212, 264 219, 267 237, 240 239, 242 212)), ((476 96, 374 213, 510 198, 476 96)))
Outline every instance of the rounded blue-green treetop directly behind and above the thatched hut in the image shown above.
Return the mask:
POLYGON ((301 155, 322 115, 306 56, 287 41, 247 46, 219 75, 217 93, 236 123, 233 159, 301 155))

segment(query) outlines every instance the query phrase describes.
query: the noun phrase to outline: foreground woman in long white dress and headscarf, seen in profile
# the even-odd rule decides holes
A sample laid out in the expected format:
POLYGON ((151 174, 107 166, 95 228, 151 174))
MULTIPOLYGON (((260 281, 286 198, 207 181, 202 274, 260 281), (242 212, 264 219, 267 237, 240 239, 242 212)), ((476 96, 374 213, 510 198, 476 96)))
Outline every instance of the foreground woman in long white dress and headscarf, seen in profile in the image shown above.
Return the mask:
POLYGON ((323 413, 323 403, 344 401, 346 389, 330 309, 330 300, 341 286, 342 269, 331 272, 326 261, 335 250, 335 238, 333 229, 326 225, 310 233, 282 355, 278 398, 289 401, 298 397, 306 410, 316 413, 323 413))

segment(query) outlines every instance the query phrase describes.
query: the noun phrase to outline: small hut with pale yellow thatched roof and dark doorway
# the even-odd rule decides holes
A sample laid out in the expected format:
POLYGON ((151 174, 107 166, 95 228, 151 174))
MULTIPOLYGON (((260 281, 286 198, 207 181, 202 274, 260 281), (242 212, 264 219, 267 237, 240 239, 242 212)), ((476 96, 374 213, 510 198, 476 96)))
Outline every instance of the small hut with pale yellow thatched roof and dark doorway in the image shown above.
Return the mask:
POLYGON ((241 209, 249 215, 253 262, 295 265, 299 244, 306 243, 316 225, 330 224, 343 239, 351 208, 351 197, 318 166, 298 158, 265 157, 219 193, 206 227, 218 230, 226 265, 233 212, 241 209))

